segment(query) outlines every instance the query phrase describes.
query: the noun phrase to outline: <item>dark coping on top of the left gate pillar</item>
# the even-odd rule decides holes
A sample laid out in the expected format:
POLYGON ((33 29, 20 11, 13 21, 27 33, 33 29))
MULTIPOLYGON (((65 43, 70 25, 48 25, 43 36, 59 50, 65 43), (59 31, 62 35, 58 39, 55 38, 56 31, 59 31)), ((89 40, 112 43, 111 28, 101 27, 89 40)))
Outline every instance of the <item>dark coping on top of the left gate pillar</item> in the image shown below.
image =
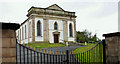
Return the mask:
POLYGON ((0 22, 0 29, 13 29, 17 30, 20 28, 20 25, 17 23, 4 23, 0 22))

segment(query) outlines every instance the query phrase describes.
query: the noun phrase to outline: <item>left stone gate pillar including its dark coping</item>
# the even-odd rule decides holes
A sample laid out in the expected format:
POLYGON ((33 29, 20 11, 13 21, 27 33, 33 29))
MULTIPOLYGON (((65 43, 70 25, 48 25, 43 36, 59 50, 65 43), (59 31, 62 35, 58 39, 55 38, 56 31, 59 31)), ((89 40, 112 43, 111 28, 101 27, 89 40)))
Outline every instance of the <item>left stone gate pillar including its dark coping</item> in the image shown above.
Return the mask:
POLYGON ((14 23, 0 23, 0 64, 16 64, 16 30, 14 23))

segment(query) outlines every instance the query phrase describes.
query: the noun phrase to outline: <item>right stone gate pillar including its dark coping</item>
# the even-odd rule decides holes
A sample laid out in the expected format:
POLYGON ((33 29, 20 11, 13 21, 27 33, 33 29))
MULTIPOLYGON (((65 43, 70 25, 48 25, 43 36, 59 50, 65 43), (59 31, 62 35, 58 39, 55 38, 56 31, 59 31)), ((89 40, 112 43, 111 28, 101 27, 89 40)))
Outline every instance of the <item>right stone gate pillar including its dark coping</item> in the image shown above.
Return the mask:
POLYGON ((106 64, 120 63, 120 32, 103 34, 105 37, 106 64))

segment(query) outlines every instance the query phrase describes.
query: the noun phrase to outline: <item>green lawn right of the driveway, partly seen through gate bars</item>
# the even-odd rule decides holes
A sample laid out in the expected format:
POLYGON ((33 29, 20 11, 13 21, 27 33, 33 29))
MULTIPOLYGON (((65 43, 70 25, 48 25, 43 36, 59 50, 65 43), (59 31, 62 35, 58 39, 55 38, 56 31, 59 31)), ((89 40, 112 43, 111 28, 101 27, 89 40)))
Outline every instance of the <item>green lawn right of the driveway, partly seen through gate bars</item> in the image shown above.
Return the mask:
POLYGON ((90 64, 92 64, 93 62, 97 62, 97 63, 103 62, 103 52, 102 52, 103 47, 102 45, 98 45, 95 48, 93 48, 96 44, 97 43, 95 44, 88 43, 87 46, 85 47, 80 47, 80 48, 73 50, 73 53, 74 54, 81 53, 81 54, 77 54, 76 58, 82 62, 90 62, 90 64), (89 49, 91 50, 88 51, 89 49))

